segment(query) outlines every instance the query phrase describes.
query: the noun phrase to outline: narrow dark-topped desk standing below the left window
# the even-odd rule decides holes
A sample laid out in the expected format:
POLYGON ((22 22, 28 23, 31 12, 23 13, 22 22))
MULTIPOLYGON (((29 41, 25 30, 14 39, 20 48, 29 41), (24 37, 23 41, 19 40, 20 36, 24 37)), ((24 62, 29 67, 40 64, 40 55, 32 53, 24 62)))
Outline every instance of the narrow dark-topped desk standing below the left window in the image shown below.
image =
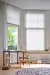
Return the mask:
MULTIPOLYGON (((15 63, 18 64, 18 61, 19 61, 19 53, 22 53, 22 57, 23 57, 23 60, 24 60, 24 55, 25 55, 25 53, 27 53, 27 51, 3 51, 3 66, 5 66, 4 59, 5 59, 6 53, 8 53, 8 57, 9 58, 10 58, 10 54, 11 53, 16 53, 16 55, 17 55, 17 61, 14 62, 13 64, 15 64, 15 63)), ((9 59, 9 63, 10 63, 10 59, 9 59)))

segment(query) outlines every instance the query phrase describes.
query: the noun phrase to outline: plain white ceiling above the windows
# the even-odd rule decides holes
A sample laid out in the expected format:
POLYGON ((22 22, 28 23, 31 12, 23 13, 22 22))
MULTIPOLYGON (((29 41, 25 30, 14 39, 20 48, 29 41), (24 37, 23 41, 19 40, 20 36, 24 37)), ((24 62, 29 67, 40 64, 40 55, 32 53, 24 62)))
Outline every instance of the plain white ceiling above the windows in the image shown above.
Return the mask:
POLYGON ((22 9, 50 10, 50 0, 2 0, 22 9))

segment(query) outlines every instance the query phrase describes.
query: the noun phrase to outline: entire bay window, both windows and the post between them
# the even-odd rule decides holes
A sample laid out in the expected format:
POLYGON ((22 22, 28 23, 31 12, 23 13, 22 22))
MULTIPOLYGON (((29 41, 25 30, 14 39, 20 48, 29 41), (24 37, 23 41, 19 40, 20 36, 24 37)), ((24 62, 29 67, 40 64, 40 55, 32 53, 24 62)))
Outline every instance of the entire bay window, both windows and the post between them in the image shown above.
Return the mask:
POLYGON ((26 50, 45 50, 45 13, 39 11, 32 13, 26 12, 26 15, 23 13, 21 16, 20 10, 18 8, 7 5, 6 14, 8 49, 18 50, 20 43, 20 48, 24 47, 26 50), (23 20, 24 16, 25 21, 23 20), (9 36, 9 32, 12 36, 9 36), (19 33, 21 34, 21 39, 19 38, 19 33), (13 43, 10 42, 10 40, 13 43))

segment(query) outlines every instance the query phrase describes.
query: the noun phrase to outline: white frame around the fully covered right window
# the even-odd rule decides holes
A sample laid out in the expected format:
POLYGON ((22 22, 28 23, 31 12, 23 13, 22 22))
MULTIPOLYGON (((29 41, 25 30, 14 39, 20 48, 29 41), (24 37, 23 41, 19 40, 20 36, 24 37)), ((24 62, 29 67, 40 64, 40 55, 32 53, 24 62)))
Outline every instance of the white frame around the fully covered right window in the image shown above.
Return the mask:
MULTIPOLYGON (((45 13, 45 10, 36 10, 36 11, 26 11, 25 12, 25 49, 26 49, 26 30, 27 29, 44 29, 44 48, 46 49, 46 13, 45 13), (35 13, 35 14, 44 14, 44 24, 45 24, 45 27, 44 28, 26 28, 26 14, 27 13, 35 13)), ((35 50, 27 50, 26 51, 35 51, 35 50)), ((37 50, 38 51, 38 50, 37 50)))

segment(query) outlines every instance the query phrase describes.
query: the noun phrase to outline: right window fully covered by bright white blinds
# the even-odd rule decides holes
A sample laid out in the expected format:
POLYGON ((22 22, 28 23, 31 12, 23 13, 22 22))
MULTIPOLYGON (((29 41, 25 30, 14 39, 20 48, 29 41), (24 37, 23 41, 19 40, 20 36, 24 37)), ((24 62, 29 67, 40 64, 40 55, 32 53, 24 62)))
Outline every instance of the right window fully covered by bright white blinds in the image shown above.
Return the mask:
POLYGON ((44 14, 26 14, 26 50, 45 50, 44 14))

